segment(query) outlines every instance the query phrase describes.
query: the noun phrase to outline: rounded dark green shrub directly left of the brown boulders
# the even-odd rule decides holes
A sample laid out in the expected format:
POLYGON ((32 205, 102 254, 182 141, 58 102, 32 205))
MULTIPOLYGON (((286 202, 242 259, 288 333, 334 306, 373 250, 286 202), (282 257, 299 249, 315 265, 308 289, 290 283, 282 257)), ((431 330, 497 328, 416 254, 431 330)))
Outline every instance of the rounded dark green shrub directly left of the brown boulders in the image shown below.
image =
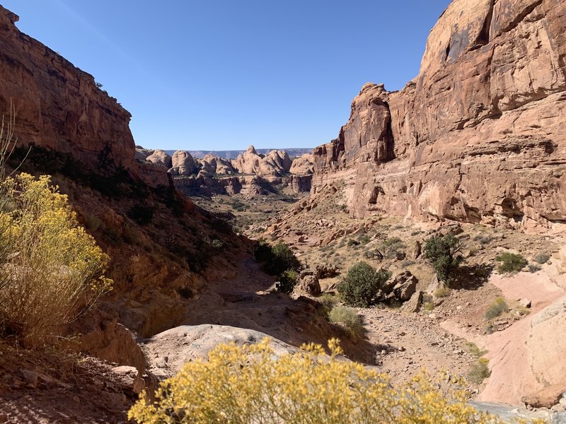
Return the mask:
POLYGON ((377 293, 389 277, 389 271, 376 271, 366 262, 358 262, 350 267, 346 276, 338 283, 337 290, 347 305, 368 307, 375 302, 377 293))

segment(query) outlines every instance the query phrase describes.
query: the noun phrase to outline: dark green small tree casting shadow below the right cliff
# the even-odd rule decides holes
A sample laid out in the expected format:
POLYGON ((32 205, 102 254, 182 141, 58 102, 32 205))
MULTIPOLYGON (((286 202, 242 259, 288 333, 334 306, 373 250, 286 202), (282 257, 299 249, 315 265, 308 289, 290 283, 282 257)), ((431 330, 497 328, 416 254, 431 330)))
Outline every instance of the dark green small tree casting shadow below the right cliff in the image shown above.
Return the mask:
POLYGON ((445 285, 450 285, 454 273, 464 260, 459 254, 461 249, 460 240, 450 233, 434 235, 424 244, 424 257, 445 285))

